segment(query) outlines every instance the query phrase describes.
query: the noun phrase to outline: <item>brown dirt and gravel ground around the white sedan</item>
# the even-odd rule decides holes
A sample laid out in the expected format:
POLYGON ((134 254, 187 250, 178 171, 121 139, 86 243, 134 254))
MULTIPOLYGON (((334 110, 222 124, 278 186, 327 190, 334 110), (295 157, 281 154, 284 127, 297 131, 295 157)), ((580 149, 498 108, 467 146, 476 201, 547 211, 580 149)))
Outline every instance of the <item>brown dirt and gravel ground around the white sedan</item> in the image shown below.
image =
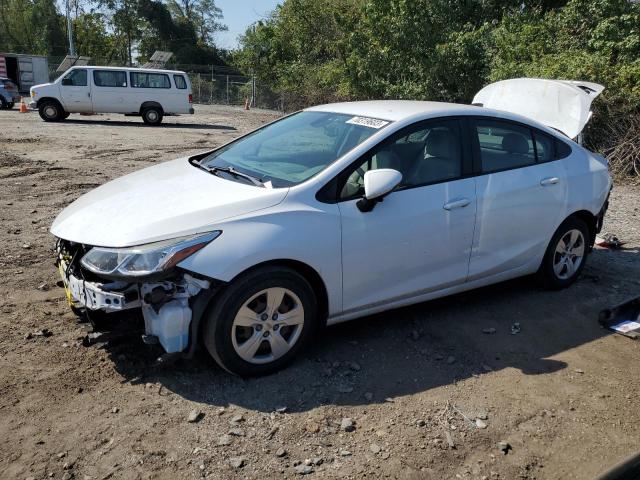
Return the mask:
POLYGON ((597 322, 640 295, 638 187, 616 186, 606 220, 625 248, 595 250, 570 289, 525 278, 332 327, 271 377, 206 354, 157 366, 138 335, 83 346, 56 286, 55 215, 272 118, 0 112, 1 478, 589 479, 640 451, 640 343, 597 322))

